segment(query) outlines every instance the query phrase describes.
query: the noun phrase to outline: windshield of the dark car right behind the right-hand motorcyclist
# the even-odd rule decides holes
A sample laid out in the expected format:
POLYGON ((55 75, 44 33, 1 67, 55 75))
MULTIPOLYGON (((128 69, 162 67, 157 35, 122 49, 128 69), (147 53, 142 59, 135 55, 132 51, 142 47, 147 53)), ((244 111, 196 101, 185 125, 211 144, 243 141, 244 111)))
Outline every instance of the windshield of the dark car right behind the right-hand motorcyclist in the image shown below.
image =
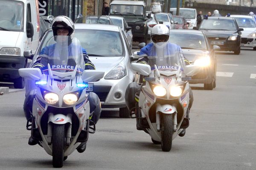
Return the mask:
POLYGON ((207 50, 204 34, 170 32, 169 42, 180 45, 184 49, 207 50))

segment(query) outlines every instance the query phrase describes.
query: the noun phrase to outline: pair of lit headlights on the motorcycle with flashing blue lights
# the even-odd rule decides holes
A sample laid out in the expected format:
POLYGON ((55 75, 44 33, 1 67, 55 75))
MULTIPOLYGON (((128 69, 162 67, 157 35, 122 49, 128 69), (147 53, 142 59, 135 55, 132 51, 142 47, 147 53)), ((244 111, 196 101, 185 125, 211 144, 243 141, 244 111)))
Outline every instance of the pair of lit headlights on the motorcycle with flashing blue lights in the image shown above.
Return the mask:
MULTIPOLYGON (((74 103, 76 103, 78 101, 79 94, 80 94, 79 91, 65 94, 63 96, 63 102, 66 105, 73 105, 74 103)), ((43 91, 43 96, 44 96, 44 100, 51 105, 54 105, 59 101, 58 94, 55 94, 55 93, 52 93, 49 91, 43 91)))

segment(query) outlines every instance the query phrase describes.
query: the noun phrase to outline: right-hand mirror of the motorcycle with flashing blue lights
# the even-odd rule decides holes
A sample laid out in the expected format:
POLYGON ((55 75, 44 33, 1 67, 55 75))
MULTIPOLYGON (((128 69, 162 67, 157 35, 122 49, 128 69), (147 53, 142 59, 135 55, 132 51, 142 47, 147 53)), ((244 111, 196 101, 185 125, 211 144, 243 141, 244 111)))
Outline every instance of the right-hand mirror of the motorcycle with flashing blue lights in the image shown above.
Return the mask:
POLYGON ((96 82, 104 77, 104 71, 84 70, 82 73, 83 82, 96 82))

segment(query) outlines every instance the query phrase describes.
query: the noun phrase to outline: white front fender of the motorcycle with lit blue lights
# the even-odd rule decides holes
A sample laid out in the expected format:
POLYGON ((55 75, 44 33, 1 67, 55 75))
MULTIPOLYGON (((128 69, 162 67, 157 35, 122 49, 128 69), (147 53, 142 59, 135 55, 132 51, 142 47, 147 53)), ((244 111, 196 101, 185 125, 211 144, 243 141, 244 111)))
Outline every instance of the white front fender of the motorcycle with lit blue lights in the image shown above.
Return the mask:
POLYGON ((63 114, 53 115, 53 113, 49 113, 48 123, 49 122, 52 122, 52 123, 58 124, 58 125, 70 123, 70 125, 71 125, 72 124, 72 115, 71 114, 68 114, 67 116, 65 116, 63 114))

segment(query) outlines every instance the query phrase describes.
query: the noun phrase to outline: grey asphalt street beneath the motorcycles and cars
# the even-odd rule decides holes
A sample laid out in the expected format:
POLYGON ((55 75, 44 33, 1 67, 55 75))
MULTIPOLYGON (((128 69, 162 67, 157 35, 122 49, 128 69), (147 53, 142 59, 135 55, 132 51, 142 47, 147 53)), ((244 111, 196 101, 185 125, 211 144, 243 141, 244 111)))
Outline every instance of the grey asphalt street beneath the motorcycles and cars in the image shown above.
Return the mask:
MULTIPOLYGON (((194 103, 190 126, 170 152, 136 130, 134 119, 118 111, 102 112, 84 153, 75 151, 62 169, 76 170, 255 170, 256 55, 218 52, 216 88, 191 85, 194 103)), ((11 88, 11 87, 10 87, 11 88)), ((0 96, 0 170, 52 169, 52 156, 27 144, 23 115, 25 91, 0 96)))

